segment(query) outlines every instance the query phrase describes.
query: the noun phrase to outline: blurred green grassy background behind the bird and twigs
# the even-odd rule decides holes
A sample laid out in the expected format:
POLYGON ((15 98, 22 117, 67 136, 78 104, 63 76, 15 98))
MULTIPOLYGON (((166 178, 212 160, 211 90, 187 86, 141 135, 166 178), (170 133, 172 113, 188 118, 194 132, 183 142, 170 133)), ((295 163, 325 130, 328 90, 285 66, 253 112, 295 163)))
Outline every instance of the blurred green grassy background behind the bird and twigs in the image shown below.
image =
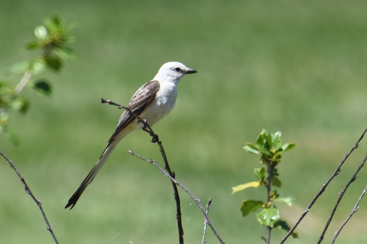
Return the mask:
MULTIPOLYGON (((262 128, 282 131, 297 146, 279 165, 278 204, 293 225, 366 128, 366 1, 1 1, 0 70, 35 57, 23 45, 42 20, 68 23, 77 58, 52 80, 51 98, 32 89, 25 116, 11 114, 20 146, 0 135, 3 151, 25 177, 60 243, 178 243, 171 184, 132 150, 163 165, 148 134, 134 131, 109 158, 72 210, 64 206, 97 162, 132 94, 167 61, 197 74, 179 84, 175 109, 153 127, 177 179, 203 203, 213 198, 212 224, 226 243, 263 243, 265 226, 241 216, 242 199, 266 199, 265 189, 230 195, 255 180, 255 155, 242 147, 262 128)), ((21 75, 6 79, 20 80, 21 75)), ((365 139, 366 140, 366 139, 365 139)), ((342 168, 297 228, 316 243, 338 193, 367 151, 366 141, 342 168)), ((0 159, 0 243, 52 243, 33 200, 0 159)), ((326 233, 331 241, 366 185, 366 170, 346 192, 326 233)), ((181 193, 185 243, 200 243, 203 215, 181 193)), ((366 200, 336 243, 366 243, 366 200)), ((286 232, 272 232, 279 243, 286 232)), ((208 230, 208 243, 218 243, 208 230)))

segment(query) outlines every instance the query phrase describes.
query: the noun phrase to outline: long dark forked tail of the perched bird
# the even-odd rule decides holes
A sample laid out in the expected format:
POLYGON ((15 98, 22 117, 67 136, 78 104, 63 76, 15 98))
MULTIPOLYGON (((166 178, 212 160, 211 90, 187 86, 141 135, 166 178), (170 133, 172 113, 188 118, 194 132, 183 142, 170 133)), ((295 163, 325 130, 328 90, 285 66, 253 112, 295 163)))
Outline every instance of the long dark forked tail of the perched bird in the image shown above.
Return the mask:
POLYGON ((117 146, 117 143, 113 143, 111 141, 106 147, 105 151, 103 151, 101 157, 98 159, 97 164, 94 165, 93 169, 87 175, 86 179, 83 180, 80 187, 76 190, 74 195, 69 199, 68 204, 66 204, 65 209, 71 206, 70 210, 75 206, 76 202, 80 198, 83 191, 87 188, 87 186, 92 182, 98 171, 102 168, 103 164, 105 164, 109 155, 112 153, 113 149, 117 146))

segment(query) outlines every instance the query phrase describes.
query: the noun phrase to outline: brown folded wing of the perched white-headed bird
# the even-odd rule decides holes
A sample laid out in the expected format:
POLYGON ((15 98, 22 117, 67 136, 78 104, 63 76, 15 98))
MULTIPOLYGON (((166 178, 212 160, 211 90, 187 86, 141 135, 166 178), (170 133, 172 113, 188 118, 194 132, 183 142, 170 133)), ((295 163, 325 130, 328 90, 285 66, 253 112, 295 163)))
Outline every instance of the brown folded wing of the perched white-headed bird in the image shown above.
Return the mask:
MULTIPOLYGON (((139 116, 141 112, 148 106, 156 97, 157 92, 159 91, 159 82, 158 80, 152 80, 142 87, 132 96, 129 105, 127 106, 135 115, 139 116)), ((125 110, 117 124, 116 131, 112 134, 111 138, 109 139, 108 143, 110 143, 113 138, 117 134, 120 133, 122 129, 124 129, 128 124, 131 123, 135 119, 127 110, 125 110)))

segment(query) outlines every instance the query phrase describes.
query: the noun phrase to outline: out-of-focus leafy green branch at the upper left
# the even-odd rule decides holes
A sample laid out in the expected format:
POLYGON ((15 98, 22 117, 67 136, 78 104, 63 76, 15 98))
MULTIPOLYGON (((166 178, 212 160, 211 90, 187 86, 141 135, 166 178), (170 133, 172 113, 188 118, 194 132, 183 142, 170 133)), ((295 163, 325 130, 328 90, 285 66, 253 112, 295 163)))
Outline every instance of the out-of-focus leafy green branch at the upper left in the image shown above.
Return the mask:
POLYGON ((66 46, 75 40, 68 34, 70 29, 65 20, 57 15, 45 19, 43 25, 34 29, 36 40, 25 45, 28 50, 39 50, 40 55, 35 59, 14 64, 6 72, 6 75, 23 74, 19 83, 13 85, 12 82, 0 79, 0 133, 7 132, 10 109, 23 114, 27 112, 29 100, 19 95, 24 87, 30 85, 39 93, 50 96, 52 87, 47 79, 32 80, 31 78, 41 74, 46 68, 58 72, 62 67, 62 60, 74 57, 74 50, 66 46))

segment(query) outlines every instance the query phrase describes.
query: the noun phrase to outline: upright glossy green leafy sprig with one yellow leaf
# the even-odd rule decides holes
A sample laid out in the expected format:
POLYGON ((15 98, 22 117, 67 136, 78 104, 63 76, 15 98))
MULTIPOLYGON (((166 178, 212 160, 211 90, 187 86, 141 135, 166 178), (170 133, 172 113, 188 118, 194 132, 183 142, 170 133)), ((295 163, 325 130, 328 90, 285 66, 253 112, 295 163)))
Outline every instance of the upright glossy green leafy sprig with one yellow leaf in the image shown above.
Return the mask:
MULTIPOLYGON (((277 190, 272 187, 281 187, 281 181, 279 180, 279 172, 276 166, 279 164, 281 156, 284 152, 291 150, 295 146, 295 143, 282 143, 281 132, 270 133, 263 129, 260 135, 257 137, 255 144, 246 143, 243 147, 244 150, 259 155, 261 168, 254 169, 254 175, 257 181, 248 182, 246 184, 237 185, 233 187, 232 194, 243 191, 246 188, 259 186, 266 188, 267 200, 243 200, 240 206, 243 217, 248 214, 262 208, 260 212, 256 214, 256 218, 260 224, 267 226, 266 237, 263 237, 265 242, 270 243, 270 232, 273 228, 277 227, 286 231, 290 230, 287 222, 282 220, 279 215, 279 209, 274 202, 286 203, 288 206, 292 206, 293 197, 280 198, 277 190)), ((297 233, 292 233, 293 237, 298 237, 297 233)))

